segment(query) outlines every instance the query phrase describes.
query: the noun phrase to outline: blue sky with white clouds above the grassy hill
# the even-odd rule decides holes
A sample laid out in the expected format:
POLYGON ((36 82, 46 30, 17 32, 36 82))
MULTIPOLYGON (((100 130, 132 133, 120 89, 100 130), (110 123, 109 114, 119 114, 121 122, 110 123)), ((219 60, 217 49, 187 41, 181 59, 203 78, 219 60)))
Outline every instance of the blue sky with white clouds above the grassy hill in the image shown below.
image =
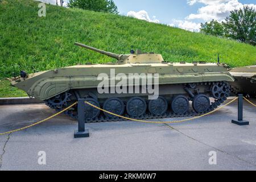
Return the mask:
MULTIPOLYGON (((37 0, 55 4, 56 0, 37 0)), ((57 0, 60 1, 60 0, 57 0)), ((69 0, 64 0, 67 5, 69 0)), ((212 19, 222 21, 234 9, 256 0, 113 0, 122 15, 163 23, 189 31, 199 31, 200 23, 212 19)))

